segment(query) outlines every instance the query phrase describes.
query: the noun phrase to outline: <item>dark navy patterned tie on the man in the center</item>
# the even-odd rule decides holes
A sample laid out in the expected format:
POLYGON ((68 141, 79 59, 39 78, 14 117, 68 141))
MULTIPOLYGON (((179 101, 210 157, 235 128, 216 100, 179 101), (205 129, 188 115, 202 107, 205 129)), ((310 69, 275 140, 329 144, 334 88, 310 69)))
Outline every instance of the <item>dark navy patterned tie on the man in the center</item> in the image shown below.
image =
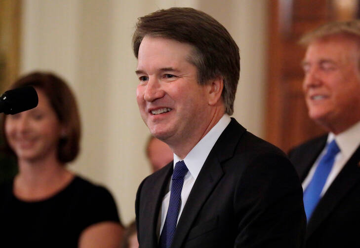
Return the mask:
POLYGON ((169 248, 174 238, 177 217, 179 215, 181 190, 183 189, 184 177, 188 172, 183 160, 175 164, 174 172, 171 179, 171 191, 169 208, 167 209, 164 227, 160 235, 160 247, 169 248))

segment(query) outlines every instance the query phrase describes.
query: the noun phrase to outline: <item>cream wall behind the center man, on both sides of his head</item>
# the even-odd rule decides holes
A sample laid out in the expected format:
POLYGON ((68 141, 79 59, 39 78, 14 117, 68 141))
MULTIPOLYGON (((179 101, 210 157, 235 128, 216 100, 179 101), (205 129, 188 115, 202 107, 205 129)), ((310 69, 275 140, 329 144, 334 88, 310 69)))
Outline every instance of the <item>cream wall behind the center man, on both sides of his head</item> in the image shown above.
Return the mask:
POLYGON ((262 136, 266 5, 265 0, 23 0, 21 72, 54 71, 72 86, 83 137, 70 168, 112 191, 125 224, 135 216, 137 186, 150 172, 144 153, 149 132, 135 100, 131 36, 137 17, 190 6, 219 20, 241 50, 234 117, 262 136))

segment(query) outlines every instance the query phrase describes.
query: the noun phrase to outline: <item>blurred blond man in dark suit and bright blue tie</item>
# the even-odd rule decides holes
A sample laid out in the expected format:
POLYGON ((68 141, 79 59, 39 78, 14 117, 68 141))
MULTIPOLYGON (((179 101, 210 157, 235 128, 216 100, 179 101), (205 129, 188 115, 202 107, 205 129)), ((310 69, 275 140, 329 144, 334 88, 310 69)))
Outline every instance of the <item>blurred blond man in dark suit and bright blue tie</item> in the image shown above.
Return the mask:
POLYGON ((329 132, 289 153, 303 182, 306 247, 360 247, 360 21, 301 42, 309 116, 329 132))

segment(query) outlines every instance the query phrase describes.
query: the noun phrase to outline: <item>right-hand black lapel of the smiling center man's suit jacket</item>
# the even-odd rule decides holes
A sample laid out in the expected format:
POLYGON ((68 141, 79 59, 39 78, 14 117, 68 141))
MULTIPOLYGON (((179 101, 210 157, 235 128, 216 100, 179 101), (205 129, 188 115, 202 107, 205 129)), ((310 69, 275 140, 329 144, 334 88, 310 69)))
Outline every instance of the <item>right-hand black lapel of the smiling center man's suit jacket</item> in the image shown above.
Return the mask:
POLYGON ((245 129, 232 118, 228 127, 215 143, 184 206, 171 248, 182 247, 203 204, 223 176, 221 162, 233 156, 236 144, 244 132, 245 129))

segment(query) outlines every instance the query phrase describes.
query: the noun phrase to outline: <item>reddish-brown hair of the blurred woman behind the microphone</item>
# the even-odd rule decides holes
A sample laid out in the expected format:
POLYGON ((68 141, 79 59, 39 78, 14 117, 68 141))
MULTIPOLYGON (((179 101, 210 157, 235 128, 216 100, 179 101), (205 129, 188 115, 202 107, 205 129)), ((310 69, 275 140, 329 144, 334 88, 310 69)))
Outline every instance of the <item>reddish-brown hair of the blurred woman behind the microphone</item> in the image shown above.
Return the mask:
MULTIPOLYGON (((52 73, 33 72, 15 81, 9 89, 23 86, 33 86, 42 90, 54 109, 59 122, 65 127, 66 135, 61 137, 57 149, 57 158, 60 162, 73 161, 79 154, 80 116, 78 106, 69 86, 64 80, 52 73)), ((4 135, 6 116, 2 118, 2 133, 5 149, 11 151, 4 135)))

